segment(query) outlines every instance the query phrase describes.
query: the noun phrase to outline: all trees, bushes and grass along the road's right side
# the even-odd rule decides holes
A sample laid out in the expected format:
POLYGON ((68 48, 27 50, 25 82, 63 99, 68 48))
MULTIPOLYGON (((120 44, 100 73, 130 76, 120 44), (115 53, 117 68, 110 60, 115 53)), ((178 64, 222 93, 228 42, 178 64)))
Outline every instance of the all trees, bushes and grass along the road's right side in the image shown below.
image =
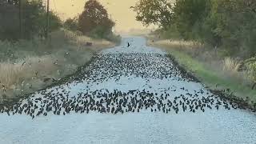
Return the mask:
POLYGON ((134 10, 145 26, 159 26, 150 45, 172 54, 211 89, 256 101, 255 1, 140 0, 134 10))

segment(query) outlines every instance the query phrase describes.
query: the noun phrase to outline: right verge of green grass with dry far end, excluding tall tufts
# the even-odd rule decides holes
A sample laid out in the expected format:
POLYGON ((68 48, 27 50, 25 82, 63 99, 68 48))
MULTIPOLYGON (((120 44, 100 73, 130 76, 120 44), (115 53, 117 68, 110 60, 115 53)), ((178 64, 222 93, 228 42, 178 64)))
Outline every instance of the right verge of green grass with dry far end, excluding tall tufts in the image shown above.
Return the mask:
MULTIPOLYGON (((234 71, 222 69, 222 65, 213 65, 208 59, 202 61, 202 58, 194 58, 193 55, 187 53, 187 49, 195 49, 197 44, 182 42, 166 42, 166 41, 148 41, 148 45, 161 48, 168 54, 171 54, 176 61, 199 79, 202 83, 208 86, 211 90, 221 90, 222 92, 229 93, 227 95, 235 95, 237 98, 242 98, 250 105, 256 102, 256 90, 251 90, 250 82, 247 82, 243 74, 234 73, 234 71)), ((216 62, 215 62, 216 63, 216 62)))

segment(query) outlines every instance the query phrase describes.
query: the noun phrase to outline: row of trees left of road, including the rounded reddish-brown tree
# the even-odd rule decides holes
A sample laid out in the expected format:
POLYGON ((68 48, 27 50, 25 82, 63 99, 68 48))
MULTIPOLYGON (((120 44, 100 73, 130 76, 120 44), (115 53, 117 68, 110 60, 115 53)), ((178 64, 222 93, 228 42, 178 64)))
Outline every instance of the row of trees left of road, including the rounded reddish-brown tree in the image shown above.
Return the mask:
MULTIPOLYGON (((87 1, 82 14, 76 18, 69 18, 62 22, 58 14, 52 11, 49 18, 50 31, 64 27, 95 38, 105 38, 108 34, 112 34, 111 30, 114 26, 106 9, 96 0, 87 1)), ((34 37, 44 39, 46 28, 46 6, 43 5, 42 0, 2 0, 0 2, 0 40, 13 41, 34 37), (22 5, 18 2, 22 2, 22 5), (20 13, 22 13, 21 26, 20 13)))

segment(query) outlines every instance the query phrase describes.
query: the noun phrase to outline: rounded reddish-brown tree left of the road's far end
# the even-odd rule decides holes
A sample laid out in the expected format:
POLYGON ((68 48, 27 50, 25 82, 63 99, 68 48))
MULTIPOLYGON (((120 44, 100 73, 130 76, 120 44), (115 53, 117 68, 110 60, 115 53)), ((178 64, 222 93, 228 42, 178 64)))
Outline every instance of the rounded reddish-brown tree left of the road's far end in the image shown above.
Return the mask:
POLYGON ((114 22, 109 18, 106 9, 96 0, 89 0, 78 17, 78 30, 82 34, 91 32, 103 35, 110 34, 114 22))

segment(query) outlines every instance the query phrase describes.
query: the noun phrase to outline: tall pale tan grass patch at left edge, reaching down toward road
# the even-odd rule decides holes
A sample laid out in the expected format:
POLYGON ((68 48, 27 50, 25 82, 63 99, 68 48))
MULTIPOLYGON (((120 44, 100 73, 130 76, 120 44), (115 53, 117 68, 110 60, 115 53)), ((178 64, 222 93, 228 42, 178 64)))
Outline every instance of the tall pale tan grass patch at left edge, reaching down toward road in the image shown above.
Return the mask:
MULTIPOLYGON (((18 60, 18 62, 0 62, 0 83, 2 86, 1 94, 6 94, 8 90, 26 90, 35 82, 43 82, 44 78, 51 78, 58 70, 58 66, 54 65, 54 58, 50 55, 42 57, 27 57, 18 60)), ((38 85, 38 84, 36 84, 38 85)), ((10 93, 10 92, 9 92, 10 93)), ((0 97, 1 98, 1 97, 0 97)))

